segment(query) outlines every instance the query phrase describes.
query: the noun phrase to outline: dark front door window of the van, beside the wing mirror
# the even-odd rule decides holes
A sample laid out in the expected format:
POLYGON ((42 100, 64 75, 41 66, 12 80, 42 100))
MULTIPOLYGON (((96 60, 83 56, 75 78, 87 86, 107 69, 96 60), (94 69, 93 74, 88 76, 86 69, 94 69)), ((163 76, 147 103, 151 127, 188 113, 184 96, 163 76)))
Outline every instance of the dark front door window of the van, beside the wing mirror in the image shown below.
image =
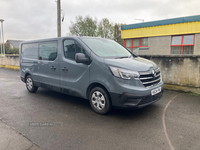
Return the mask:
POLYGON ((65 58, 75 60, 76 53, 84 53, 84 49, 74 40, 64 41, 64 55, 65 58))

